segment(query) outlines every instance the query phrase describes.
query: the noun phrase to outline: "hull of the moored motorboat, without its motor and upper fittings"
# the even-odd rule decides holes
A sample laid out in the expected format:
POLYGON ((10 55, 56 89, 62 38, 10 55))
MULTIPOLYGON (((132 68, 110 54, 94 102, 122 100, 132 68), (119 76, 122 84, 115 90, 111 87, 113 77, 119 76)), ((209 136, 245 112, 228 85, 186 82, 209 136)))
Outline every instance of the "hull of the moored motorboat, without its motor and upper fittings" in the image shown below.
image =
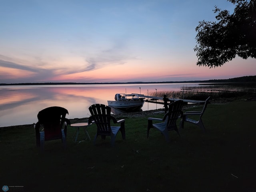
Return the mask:
POLYGON ((140 111, 144 101, 108 101, 108 106, 124 112, 140 111))

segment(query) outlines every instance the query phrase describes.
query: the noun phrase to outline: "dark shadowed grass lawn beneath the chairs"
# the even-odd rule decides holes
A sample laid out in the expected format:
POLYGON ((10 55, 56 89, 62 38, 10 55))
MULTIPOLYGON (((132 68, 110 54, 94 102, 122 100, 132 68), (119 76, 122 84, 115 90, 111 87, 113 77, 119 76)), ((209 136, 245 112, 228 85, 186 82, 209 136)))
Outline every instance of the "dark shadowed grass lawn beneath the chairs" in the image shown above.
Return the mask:
MULTIPOLYGON (((67 150, 55 140, 45 142, 44 152, 36 148, 32 125, 4 128, 0 187, 24 192, 255 192, 255 116, 256 101, 211 103, 203 116, 206 132, 185 123, 181 138, 169 132, 170 143, 153 128, 146 136, 147 118, 163 114, 127 116, 126 140, 118 133, 114 148, 109 137, 98 137, 96 146, 92 141, 75 144, 75 130, 68 127, 67 150)), ((88 132, 93 140, 95 125, 88 132)))

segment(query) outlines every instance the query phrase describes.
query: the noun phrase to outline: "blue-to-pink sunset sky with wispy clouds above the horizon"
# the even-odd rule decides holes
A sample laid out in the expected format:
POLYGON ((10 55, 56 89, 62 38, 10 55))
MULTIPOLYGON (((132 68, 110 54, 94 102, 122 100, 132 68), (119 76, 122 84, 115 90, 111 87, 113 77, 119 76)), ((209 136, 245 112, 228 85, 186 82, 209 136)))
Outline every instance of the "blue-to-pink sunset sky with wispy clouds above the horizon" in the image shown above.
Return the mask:
POLYGON ((196 66, 199 22, 227 0, 0 0, 0 83, 165 82, 256 75, 196 66))

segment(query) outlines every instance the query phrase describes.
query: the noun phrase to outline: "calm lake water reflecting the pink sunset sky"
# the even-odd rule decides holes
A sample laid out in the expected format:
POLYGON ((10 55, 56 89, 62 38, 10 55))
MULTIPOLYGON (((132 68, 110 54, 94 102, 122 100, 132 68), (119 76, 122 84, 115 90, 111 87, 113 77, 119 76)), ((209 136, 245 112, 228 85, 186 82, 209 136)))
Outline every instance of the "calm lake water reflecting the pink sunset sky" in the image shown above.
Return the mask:
MULTIPOLYGON (((198 84, 104 84, 104 85, 41 85, 0 86, 0 127, 33 124, 40 110, 61 106, 68 110, 67 118, 88 117, 89 106, 107 105, 116 93, 175 91, 198 84), (157 90, 156 90, 157 89, 157 90)), ((163 108, 161 104, 144 103, 145 110, 163 108)))

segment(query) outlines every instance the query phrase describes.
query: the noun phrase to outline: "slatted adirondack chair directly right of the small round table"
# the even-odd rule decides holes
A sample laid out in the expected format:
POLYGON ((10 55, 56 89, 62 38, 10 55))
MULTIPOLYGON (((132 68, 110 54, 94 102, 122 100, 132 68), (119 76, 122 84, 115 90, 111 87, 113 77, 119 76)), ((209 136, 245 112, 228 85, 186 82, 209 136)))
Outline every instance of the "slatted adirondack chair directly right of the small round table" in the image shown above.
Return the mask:
POLYGON ((104 104, 93 104, 89 107, 91 116, 88 119, 88 123, 95 123, 97 126, 97 133, 94 137, 94 145, 96 143, 96 138, 98 135, 105 139, 106 136, 111 138, 111 146, 115 145, 116 135, 118 131, 121 132, 123 140, 125 140, 125 129, 124 129, 124 119, 116 120, 114 116, 110 114, 110 106, 104 104), (111 120, 116 124, 120 123, 120 126, 111 126, 111 120))

